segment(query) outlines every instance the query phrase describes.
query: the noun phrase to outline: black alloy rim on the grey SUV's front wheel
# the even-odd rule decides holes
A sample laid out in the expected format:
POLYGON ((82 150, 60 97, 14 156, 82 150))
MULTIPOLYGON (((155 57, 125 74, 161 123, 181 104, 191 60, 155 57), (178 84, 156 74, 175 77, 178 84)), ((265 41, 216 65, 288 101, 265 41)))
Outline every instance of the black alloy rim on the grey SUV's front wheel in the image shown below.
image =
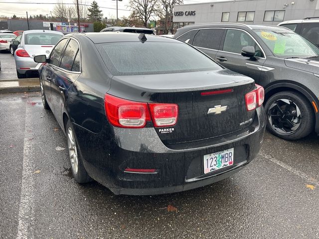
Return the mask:
POLYGON ((301 112, 291 100, 279 99, 270 106, 268 120, 276 132, 292 134, 300 127, 301 112))

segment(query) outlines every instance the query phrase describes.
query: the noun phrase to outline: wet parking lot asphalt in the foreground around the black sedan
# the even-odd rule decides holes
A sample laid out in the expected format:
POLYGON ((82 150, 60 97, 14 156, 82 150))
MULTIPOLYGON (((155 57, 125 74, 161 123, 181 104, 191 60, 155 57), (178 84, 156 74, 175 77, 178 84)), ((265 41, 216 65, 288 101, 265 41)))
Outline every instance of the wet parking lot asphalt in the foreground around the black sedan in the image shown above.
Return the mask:
POLYGON ((319 238, 317 135, 266 132, 259 156, 231 178, 116 196, 74 181, 65 136, 39 93, 2 94, 0 109, 0 238, 319 238))

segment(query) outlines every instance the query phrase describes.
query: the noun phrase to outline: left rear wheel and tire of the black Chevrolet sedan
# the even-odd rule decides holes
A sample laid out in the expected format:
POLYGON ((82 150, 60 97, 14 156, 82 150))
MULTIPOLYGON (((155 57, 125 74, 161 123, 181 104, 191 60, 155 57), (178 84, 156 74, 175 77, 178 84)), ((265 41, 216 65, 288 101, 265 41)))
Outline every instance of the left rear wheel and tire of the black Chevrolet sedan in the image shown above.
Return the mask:
POLYGON ((76 182, 88 183, 92 181, 84 168, 83 161, 80 155, 78 143, 76 142, 74 130, 71 121, 68 120, 65 126, 67 136, 67 146, 69 151, 69 158, 71 163, 71 171, 76 182))

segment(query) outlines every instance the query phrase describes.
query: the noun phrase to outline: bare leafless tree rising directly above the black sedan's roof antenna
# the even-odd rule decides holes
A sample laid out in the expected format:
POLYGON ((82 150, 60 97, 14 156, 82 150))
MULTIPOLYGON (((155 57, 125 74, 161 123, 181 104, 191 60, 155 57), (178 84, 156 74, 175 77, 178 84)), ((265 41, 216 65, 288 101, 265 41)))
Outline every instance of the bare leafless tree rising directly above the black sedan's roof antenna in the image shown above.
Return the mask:
POLYGON ((157 0, 129 0, 129 7, 133 10, 133 14, 143 22, 145 27, 151 16, 156 15, 157 0))

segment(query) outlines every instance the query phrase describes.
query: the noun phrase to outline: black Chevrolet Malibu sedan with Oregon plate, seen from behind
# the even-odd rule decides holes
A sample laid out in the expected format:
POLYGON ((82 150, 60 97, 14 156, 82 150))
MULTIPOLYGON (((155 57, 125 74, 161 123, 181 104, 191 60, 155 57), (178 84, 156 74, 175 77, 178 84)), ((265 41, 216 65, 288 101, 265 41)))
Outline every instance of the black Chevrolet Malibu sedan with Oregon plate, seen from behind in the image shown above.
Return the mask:
POLYGON ((258 154, 264 89, 175 39, 69 34, 39 68, 43 106, 79 183, 172 193, 222 180, 258 154))

